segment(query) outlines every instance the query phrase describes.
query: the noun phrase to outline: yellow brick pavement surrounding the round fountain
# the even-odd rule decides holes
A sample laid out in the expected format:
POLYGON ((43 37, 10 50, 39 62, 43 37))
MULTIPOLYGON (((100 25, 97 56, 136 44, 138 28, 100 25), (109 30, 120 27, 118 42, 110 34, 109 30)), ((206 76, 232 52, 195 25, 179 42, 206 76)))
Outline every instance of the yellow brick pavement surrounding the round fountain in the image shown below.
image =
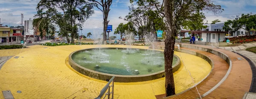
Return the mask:
MULTIPOLYGON (((30 47, 18 55, 15 52, 11 53, 20 58, 11 58, 0 70, 0 91, 12 91, 15 99, 93 99, 99 95, 107 83, 81 76, 70 70, 65 64, 65 60, 71 52, 94 48, 93 45, 58 47, 36 45, 30 47), (22 91, 22 93, 16 91, 22 91)), ((101 45, 100 47, 128 46, 101 45)), ((144 46, 131 47, 147 48, 144 46)), ((3 51, 0 50, 0 52, 2 54, 3 51)), ((8 56, 8 54, 5 55, 8 56)), ((180 52, 175 52, 175 55, 182 56, 186 69, 191 72, 196 83, 204 79, 211 70, 209 63, 199 57, 180 52)), ((183 65, 174 73, 174 77, 176 93, 194 85, 183 65)), ((116 82, 114 92, 115 99, 155 99, 154 95, 165 93, 165 78, 145 82, 116 82)), ((3 94, 0 92, 0 99, 2 98, 3 94)))

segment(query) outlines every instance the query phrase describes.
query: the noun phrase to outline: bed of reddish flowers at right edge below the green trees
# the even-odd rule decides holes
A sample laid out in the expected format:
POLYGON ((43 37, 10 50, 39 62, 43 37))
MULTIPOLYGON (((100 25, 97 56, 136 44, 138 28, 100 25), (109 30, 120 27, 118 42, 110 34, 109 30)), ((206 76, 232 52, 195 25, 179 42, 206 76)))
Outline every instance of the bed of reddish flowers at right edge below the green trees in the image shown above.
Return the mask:
POLYGON ((236 43, 249 43, 256 41, 256 36, 238 36, 238 37, 232 37, 228 38, 230 40, 230 43, 236 44, 236 43))

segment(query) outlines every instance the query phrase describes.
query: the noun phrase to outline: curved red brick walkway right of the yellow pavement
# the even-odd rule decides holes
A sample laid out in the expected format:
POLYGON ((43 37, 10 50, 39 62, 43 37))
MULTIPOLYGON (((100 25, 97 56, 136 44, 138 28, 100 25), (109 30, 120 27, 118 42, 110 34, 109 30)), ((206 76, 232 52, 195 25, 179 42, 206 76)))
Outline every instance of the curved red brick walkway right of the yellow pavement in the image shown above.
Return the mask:
MULTIPOLYGON (((218 86, 218 88, 216 88, 207 96, 205 96, 204 99, 226 99, 226 98, 242 99, 242 97, 244 96, 244 93, 249 91, 251 80, 252 80, 252 71, 250 69, 249 63, 240 55, 237 55, 236 53, 233 53, 227 50, 212 48, 210 46, 195 45, 195 44, 182 44, 182 45, 197 46, 197 48, 195 49, 198 49, 198 47, 203 47, 203 48, 216 50, 218 52, 222 52, 226 54, 229 58, 231 58, 232 68, 227 79, 223 83, 221 83, 221 85, 218 86), (242 58, 243 60, 238 60, 237 58, 242 58)), ((225 76, 229 68, 229 65, 224 59, 222 59, 217 55, 214 55, 209 52, 204 52, 201 50, 183 48, 182 45, 180 49, 192 50, 192 51, 201 53, 203 55, 206 55, 208 58, 212 59, 214 63, 214 69, 212 73, 209 75, 209 77, 207 77, 206 80, 204 80, 199 85, 197 85, 199 93, 202 95, 207 91, 209 91, 212 87, 214 87, 225 76)), ((156 97, 160 99, 163 96, 164 94, 158 95, 156 97)), ((196 89, 192 88, 189 91, 186 91, 179 95, 168 97, 168 99, 195 99, 197 97, 199 97, 199 95, 196 89)))

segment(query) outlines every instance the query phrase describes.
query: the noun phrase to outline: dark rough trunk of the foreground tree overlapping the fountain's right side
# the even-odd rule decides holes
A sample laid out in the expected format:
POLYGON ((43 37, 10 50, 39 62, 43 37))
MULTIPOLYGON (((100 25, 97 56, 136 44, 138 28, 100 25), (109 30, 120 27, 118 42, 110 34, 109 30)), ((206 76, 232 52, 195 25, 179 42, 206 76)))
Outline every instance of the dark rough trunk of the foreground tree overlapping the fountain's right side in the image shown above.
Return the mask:
POLYGON ((164 0, 164 14, 166 17, 166 40, 164 49, 164 63, 165 63, 165 74, 166 74, 166 96, 172 96, 175 94, 174 77, 172 72, 172 60, 174 54, 175 44, 175 24, 173 23, 171 4, 174 2, 171 0, 164 0))

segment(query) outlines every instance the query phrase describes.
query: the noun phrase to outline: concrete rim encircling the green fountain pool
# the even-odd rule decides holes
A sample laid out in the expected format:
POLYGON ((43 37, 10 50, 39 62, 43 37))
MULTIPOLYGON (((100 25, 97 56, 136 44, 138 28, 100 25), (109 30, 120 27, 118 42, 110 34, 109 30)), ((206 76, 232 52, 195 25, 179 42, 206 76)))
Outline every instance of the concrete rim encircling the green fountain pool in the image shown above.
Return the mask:
MULTIPOLYGON (((107 74, 107 73, 102 73, 102 72, 98 72, 98 71, 94 71, 94 70, 91 70, 91 69, 87 69, 83 66, 80 66, 79 64, 77 64, 73 59, 72 59, 72 55, 75 53, 75 52, 79 52, 79 51, 82 51, 82 50, 91 50, 91 49, 96 49, 96 48, 121 48, 121 49, 124 49, 123 47, 95 47, 95 48, 88 48, 88 49, 81 49, 81 50, 76 50, 72 53, 70 53, 69 57, 68 57, 68 63, 70 64, 70 66, 75 69, 76 71, 78 71, 76 69, 76 67, 78 67, 78 69, 83 69, 85 71, 88 71, 90 73, 94 73, 93 75, 95 76, 96 75, 104 75, 104 76, 109 76, 109 77, 122 77, 122 78, 128 78, 128 77, 134 77, 134 78, 137 78, 137 77, 150 77, 150 76, 154 76, 154 75, 162 75, 161 77, 165 77, 165 70, 162 70, 162 71, 158 71, 158 72, 154 72, 154 73, 151 73, 151 74, 143 74, 143 75, 117 75, 117 74, 107 74), (76 67, 73 67, 73 65, 75 65, 76 67)), ((143 48, 131 48, 131 49, 140 49, 140 50, 152 50, 152 49, 143 49, 143 48)), ((163 50, 155 50, 155 51, 159 51, 159 52, 163 52, 163 50)), ((174 57, 177 59, 177 63, 175 63, 172 67, 173 67, 173 72, 177 71, 179 68, 180 68, 180 58, 177 56, 177 55, 174 55, 174 57)), ((80 70, 78 71, 80 72, 81 74, 84 74, 82 73, 80 70)), ((99 79, 98 77, 93 77, 93 76, 90 76, 90 75, 87 75, 87 74, 84 74, 88 77, 92 77, 92 78, 95 78, 95 79, 99 79)), ((161 77, 152 77, 154 79, 151 79, 151 80, 155 80, 155 79, 159 79, 161 77)), ((103 79, 99 79, 99 80, 103 80, 103 79)), ((104 79, 106 80, 106 79, 104 79)), ((144 81, 144 80, 143 80, 144 81)), ((148 81, 148 80, 145 80, 145 81, 148 81)), ((129 82, 133 82, 133 81, 129 81, 129 82)), ((141 81, 136 81, 136 82, 141 82, 141 81)))

